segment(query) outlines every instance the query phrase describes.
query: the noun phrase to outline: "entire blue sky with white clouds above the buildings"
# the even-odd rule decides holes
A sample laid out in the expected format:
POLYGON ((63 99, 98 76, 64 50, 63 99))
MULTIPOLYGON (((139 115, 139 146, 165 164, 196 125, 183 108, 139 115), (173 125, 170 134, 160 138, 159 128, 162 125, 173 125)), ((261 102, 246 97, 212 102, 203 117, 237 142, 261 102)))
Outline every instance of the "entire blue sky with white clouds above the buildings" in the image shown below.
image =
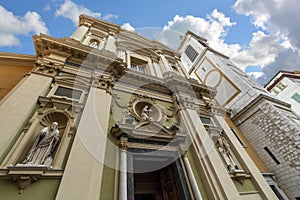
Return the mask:
POLYGON ((174 49, 179 35, 191 30, 261 84, 278 70, 300 70, 297 0, 36 2, 0 0, 0 51, 35 54, 32 35, 68 37, 76 29, 78 15, 85 13, 174 49))

